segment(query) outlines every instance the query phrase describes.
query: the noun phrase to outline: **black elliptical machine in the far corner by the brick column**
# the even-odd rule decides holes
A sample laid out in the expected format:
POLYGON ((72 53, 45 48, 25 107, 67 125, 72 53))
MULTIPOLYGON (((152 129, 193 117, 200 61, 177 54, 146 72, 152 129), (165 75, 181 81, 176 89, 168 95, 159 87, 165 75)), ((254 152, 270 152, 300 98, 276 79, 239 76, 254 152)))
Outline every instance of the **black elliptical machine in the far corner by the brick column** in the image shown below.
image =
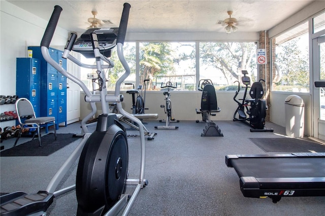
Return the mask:
POLYGON ((268 129, 265 127, 265 117, 266 117, 266 102, 264 99, 261 99, 264 95, 264 90, 261 81, 265 82, 263 79, 258 82, 254 82, 251 87, 250 78, 246 75, 248 74, 247 70, 242 70, 242 83, 245 85, 244 96, 241 100, 236 99, 240 91, 240 83, 238 82, 238 90, 235 93, 234 100, 238 103, 237 110, 234 113, 233 121, 240 121, 248 124, 250 127, 250 132, 273 132, 273 129, 268 129), (251 99, 247 99, 247 91, 249 90, 249 95, 251 99), (248 117, 247 115, 248 114, 248 117))

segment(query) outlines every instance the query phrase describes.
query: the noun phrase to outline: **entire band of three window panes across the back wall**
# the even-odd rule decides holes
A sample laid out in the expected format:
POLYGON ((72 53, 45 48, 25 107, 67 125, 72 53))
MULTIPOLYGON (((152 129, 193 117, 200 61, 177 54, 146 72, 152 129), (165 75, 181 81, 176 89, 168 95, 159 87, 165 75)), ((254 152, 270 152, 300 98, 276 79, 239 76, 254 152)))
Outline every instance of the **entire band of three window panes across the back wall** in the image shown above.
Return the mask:
MULTIPOLYGON (((124 43, 123 53, 131 68, 131 75, 122 83, 120 90, 137 88, 138 85, 143 85, 144 80, 149 80, 146 82, 147 90, 159 91, 166 82, 172 82, 174 86, 177 85, 175 90, 194 91, 198 88, 199 79, 210 79, 216 90, 235 91, 238 86, 234 82, 240 81, 243 76, 241 70, 248 71, 252 82, 257 80, 256 49, 256 42, 124 43), (139 46, 136 46, 137 43, 139 46), (199 53, 196 53, 197 50, 199 53), (139 62, 136 62, 137 53, 139 62), (200 62, 198 68, 197 62, 200 62), (137 64, 139 71, 136 71, 137 64), (137 80, 139 83, 136 83, 137 80)), ((115 83, 124 73, 124 68, 118 59, 116 48, 110 59, 115 65, 104 72, 108 81, 107 90, 114 91, 115 83)), ((87 64, 95 63, 95 59, 82 57, 81 60, 87 64)), ((95 69, 81 68, 82 81, 89 90, 99 88, 97 81, 91 79, 96 76, 95 69)))

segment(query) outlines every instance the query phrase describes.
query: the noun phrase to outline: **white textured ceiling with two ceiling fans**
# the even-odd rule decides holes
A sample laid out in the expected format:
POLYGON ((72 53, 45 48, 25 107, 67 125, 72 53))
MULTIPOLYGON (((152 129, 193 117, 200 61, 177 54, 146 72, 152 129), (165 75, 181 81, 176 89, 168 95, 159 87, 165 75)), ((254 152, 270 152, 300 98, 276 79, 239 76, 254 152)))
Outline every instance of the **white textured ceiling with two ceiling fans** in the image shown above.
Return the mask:
MULTIPOLYGON (((8 1, 48 20, 55 5, 63 8, 58 25, 69 31, 83 32, 90 24, 91 11, 96 18, 118 26, 124 1, 8 1)), ((312 1, 137 1, 130 0, 129 32, 224 32, 219 20, 233 11, 238 32, 268 30, 300 11, 312 1)))

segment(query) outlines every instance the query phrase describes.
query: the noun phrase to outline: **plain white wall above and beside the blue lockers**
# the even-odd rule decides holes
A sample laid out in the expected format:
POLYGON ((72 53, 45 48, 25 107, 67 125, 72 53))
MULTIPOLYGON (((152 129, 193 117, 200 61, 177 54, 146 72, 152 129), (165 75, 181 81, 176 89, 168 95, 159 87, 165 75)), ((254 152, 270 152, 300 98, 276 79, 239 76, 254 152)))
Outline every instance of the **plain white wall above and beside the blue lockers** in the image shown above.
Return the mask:
MULTIPOLYGON (((27 57, 28 46, 40 46, 48 21, 6 1, 0 1, 0 4, 0 94, 15 95, 16 58, 27 57)), ((51 46, 64 46, 67 38, 68 31, 57 27, 51 46)), ((1 108, 3 109, 3 107, 1 108)))

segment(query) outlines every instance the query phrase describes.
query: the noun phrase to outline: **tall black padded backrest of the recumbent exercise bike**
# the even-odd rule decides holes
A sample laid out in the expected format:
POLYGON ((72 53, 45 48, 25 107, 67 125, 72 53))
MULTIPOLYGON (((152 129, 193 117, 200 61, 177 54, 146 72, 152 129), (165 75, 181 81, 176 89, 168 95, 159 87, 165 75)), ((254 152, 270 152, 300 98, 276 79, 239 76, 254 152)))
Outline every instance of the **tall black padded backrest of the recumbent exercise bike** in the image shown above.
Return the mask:
POLYGON ((212 84, 206 84, 202 91, 201 111, 218 110, 217 96, 212 84))

